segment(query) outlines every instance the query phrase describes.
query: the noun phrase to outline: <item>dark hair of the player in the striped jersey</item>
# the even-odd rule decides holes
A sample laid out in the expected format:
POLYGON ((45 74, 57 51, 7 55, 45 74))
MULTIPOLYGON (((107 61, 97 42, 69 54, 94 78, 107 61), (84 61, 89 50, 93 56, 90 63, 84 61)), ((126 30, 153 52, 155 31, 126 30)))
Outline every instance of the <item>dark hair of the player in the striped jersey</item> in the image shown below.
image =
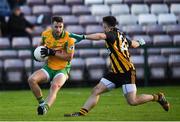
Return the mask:
POLYGON ((114 16, 103 17, 103 22, 105 22, 108 26, 112 26, 112 27, 115 27, 118 24, 114 16))

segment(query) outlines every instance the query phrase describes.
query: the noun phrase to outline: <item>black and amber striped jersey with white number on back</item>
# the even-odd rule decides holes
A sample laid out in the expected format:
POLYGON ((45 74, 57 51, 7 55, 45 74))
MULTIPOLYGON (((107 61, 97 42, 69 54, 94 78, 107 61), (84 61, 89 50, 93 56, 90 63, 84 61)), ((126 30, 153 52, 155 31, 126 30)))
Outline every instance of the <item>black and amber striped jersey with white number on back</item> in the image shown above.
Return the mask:
POLYGON ((135 69, 128 51, 131 41, 116 28, 105 34, 112 71, 114 73, 125 73, 130 69, 135 69))

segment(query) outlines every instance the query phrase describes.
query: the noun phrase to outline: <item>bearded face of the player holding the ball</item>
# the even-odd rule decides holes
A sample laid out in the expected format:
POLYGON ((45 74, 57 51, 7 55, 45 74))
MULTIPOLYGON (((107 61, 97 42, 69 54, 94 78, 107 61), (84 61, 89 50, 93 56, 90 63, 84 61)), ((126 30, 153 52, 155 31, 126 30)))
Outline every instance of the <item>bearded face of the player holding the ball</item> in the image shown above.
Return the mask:
POLYGON ((63 22, 53 22, 53 31, 57 34, 57 35, 61 35, 61 33, 63 32, 64 29, 64 24, 63 22))

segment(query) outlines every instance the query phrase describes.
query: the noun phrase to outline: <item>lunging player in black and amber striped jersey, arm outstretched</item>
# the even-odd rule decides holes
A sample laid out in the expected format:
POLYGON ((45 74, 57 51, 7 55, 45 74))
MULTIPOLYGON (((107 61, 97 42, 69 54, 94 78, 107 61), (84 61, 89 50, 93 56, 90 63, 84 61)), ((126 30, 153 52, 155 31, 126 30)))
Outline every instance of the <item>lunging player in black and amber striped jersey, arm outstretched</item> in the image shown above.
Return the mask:
MULTIPOLYGON (((114 16, 103 17, 104 33, 95 33, 89 35, 72 34, 73 38, 81 41, 88 39, 92 41, 105 40, 106 48, 109 51, 111 69, 105 74, 100 82, 94 87, 91 95, 81 107, 79 112, 65 114, 66 117, 84 116, 95 107, 102 93, 122 87, 123 94, 127 103, 131 106, 144 104, 147 102, 158 102, 165 111, 169 110, 169 103, 163 93, 140 94, 137 95, 136 88, 136 69, 131 62, 129 48, 138 48, 145 45, 143 39, 130 40, 117 27, 117 21, 114 16)), ((111 104, 111 103, 109 103, 111 104)))

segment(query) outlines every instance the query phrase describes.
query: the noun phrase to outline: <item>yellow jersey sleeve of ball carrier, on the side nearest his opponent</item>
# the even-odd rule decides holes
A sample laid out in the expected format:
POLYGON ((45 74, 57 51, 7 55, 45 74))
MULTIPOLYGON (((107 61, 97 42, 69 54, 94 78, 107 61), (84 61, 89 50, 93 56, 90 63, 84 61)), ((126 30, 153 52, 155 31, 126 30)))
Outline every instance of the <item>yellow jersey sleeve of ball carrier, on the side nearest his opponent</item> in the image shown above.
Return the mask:
POLYGON ((70 38, 66 46, 66 51, 67 53, 74 53, 74 49, 75 49, 75 39, 70 38))

